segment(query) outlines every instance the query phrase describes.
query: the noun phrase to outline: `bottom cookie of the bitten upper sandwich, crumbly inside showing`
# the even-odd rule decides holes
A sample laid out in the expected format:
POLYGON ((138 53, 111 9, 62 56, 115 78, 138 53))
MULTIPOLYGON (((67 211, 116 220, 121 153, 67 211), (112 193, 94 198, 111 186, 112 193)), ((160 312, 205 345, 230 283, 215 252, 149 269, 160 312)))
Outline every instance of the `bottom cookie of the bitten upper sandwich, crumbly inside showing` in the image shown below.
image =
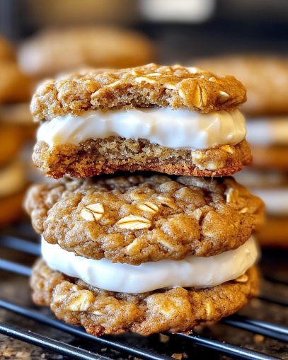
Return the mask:
POLYGON ((79 145, 64 144, 50 148, 38 141, 33 161, 47 176, 59 179, 115 173, 117 170, 152 170, 170 175, 229 176, 252 161, 244 139, 235 146, 214 149, 179 150, 154 144, 147 139, 86 140, 79 145))

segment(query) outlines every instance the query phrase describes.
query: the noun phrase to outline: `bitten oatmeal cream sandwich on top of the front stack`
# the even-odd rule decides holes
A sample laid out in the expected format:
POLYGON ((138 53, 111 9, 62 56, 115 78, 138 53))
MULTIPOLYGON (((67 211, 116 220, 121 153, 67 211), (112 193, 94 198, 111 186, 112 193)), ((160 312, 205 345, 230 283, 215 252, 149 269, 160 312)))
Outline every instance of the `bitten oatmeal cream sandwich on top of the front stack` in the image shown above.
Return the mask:
POLYGON ((238 110, 245 101, 233 76, 178 65, 67 76, 33 96, 42 122, 33 160, 53 178, 116 170, 231 175, 251 161, 238 110))

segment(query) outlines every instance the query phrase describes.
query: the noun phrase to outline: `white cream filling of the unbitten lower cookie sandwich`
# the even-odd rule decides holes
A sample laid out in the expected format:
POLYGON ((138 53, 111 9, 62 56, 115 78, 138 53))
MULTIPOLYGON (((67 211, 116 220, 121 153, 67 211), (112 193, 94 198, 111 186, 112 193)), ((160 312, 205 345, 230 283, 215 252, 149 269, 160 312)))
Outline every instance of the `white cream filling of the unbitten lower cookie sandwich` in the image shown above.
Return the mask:
POLYGON ((165 287, 209 287, 236 279, 251 267, 259 256, 254 238, 236 250, 211 257, 194 255, 184 260, 145 262, 139 266, 114 263, 108 259, 93 260, 75 256, 59 245, 42 238, 42 257, 47 265, 71 277, 109 291, 142 293, 165 287))

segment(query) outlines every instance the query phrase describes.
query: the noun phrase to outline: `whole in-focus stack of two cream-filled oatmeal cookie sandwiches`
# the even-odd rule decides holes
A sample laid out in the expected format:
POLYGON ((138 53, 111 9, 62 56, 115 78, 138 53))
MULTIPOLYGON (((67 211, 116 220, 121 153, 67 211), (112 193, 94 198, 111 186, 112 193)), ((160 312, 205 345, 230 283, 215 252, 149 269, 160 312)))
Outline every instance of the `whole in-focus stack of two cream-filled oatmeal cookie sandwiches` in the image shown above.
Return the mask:
POLYGON ((96 336, 234 313, 258 293, 263 221, 263 202, 219 177, 251 161, 245 88, 182 66, 98 72, 46 83, 31 104, 36 165, 70 175, 28 192, 42 234, 33 300, 96 336))

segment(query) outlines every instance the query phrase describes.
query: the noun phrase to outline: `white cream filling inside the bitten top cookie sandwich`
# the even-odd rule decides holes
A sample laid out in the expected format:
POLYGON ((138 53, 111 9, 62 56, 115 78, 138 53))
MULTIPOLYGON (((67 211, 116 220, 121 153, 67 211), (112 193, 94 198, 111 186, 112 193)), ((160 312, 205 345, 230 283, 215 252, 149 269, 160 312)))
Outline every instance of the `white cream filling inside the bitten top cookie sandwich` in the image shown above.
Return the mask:
POLYGON ((91 110, 79 117, 65 115, 44 122, 38 130, 38 141, 50 147, 78 145, 88 139, 111 136, 126 139, 148 139, 171 149, 212 149, 236 145, 246 136, 245 118, 238 110, 202 114, 171 108, 131 110, 91 110))

